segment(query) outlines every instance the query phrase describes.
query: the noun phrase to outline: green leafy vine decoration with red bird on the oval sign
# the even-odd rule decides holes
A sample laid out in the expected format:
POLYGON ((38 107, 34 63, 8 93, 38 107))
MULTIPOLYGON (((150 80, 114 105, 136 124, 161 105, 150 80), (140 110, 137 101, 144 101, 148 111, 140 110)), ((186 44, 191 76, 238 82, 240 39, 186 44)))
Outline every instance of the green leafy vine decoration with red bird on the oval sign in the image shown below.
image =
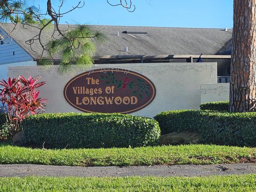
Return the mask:
POLYGON ((114 73, 108 72, 106 76, 101 75, 100 78, 102 80, 106 80, 106 85, 115 85, 117 84, 117 89, 126 89, 126 87, 129 88, 129 90, 133 90, 132 94, 133 96, 138 95, 140 99, 143 99, 143 93, 148 97, 149 95, 149 89, 150 86, 145 83, 145 81, 141 78, 137 78, 137 81, 129 82, 129 79, 125 77, 123 81, 120 79, 116 79, 114 73))

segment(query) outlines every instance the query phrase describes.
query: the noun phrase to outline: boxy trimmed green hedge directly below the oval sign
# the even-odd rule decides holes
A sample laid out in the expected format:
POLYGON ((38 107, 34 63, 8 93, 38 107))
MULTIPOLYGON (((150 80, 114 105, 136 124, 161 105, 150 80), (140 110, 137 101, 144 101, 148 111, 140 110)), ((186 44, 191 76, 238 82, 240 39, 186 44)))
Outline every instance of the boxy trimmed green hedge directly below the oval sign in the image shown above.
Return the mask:
POLYGON ((158 143, 154 119, 122 114, 41 114, 22 122, 25 143, 48 148, 139 147, 158 143))

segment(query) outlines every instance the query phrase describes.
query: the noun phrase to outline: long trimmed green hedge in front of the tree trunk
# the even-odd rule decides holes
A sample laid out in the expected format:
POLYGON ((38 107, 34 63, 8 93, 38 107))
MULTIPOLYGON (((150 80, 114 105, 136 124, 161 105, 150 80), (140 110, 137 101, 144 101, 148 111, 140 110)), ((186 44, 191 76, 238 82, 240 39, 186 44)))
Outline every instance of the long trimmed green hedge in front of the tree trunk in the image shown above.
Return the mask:
POLYGON ((191 131, 200 142, 228 146, 256 146, 256 113, 179 110, 164 111, 155 117, 162 134, 191 131))

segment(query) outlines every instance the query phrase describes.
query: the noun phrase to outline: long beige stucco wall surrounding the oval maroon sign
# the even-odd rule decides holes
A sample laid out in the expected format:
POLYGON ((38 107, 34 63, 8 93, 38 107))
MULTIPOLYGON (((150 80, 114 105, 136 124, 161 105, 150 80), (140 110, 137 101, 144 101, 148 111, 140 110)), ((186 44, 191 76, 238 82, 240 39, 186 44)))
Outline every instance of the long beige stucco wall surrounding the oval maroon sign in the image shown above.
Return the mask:
MULTIPOLYGON (((41 76, 46 85, 41 88, 41 97, 47 99, 46 111, 80 112, 70 106, 63 96, 66 83, 77 74, 61 76, 57 66, 44 68, 9 67, 9 76, 41 76)), ((74 66, 75 68, 75 66, 74 66)), ((148 77, 156 86, 156 97, 147 107, 133 113, 153 117, 161 111, 173 109, 198 109, 201 104, 201 84, 217 83, 217 63, 129 63, 94 65, 92 69, 121 68, 148 77)))

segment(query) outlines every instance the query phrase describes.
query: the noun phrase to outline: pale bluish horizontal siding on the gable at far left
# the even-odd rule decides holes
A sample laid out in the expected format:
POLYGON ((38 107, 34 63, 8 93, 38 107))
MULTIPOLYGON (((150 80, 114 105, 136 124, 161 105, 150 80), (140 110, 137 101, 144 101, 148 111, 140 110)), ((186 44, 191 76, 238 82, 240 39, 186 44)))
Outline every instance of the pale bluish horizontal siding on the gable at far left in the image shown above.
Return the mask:
MULTIPOLYGON (((1 30, 0 33, 5 34, 1 30)), ((33 61, 33 58, 23 50, 22 47, 14 41, 14 39, 12 39, 12 41, 7 39, 4 42, 4 44, 0 44, 0 65, 6 63, 33 61)))

